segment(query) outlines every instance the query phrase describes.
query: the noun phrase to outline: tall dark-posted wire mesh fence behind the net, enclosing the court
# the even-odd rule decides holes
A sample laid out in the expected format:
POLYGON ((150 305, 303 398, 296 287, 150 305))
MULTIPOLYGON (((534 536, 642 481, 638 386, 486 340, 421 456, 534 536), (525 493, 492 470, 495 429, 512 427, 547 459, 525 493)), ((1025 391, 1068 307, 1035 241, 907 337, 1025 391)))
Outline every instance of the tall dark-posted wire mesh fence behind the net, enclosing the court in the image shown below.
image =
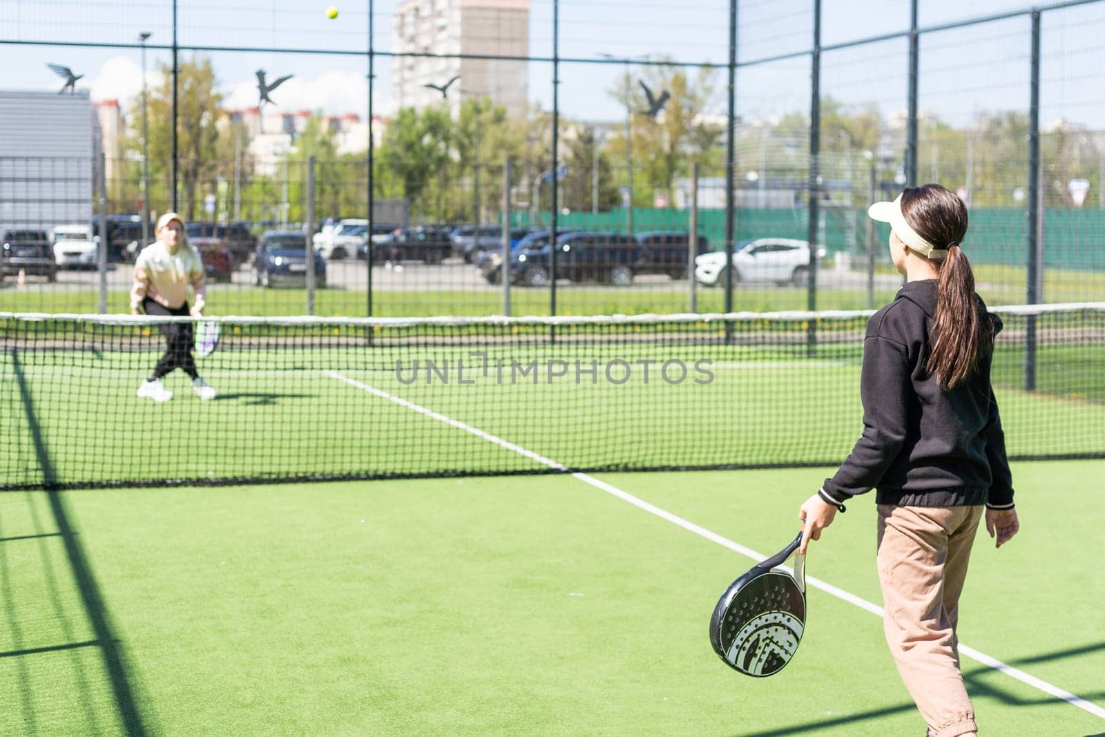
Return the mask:
POLYGON ((990 303, 1105 294, 1103 2, 107 4, 0 10, 0 310, 127 309, 170 210, 222 315, 862 308, 927 181, 990 303))

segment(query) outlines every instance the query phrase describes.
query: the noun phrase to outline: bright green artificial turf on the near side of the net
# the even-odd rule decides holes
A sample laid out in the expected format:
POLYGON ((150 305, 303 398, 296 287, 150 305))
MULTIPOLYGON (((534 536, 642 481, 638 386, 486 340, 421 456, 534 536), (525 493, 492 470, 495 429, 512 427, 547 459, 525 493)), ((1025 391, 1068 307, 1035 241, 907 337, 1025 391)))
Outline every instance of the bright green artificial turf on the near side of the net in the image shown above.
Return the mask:
MULTIPOLYGON (((604 474, 768 554, 831 468, 604 474)), ((1022 531, 978 539, 961 641, 1105 706, 1102 462, 1019 463, 1022 531)), ((880 603, 873 499, 810 576, 880 603)), ((877 617, 811 588, 772 678, 725 667, 750 560, 570 476, 0 495, 7 734, 920 733, 877 617), (103 638, 106 636, 106 644, 103 638)), ((989 734, 1105 720, 965 659, 989 734)))

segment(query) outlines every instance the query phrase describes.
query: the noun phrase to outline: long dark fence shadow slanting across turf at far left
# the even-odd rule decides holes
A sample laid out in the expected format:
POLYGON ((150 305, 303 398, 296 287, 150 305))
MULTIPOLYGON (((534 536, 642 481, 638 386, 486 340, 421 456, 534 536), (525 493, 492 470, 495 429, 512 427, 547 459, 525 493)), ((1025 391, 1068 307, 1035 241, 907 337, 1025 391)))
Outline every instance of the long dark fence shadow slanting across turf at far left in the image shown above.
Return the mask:
MULTIPOLYGON (((57 491, 57 476, 54 471, 53 462, 50 457, 49 449, 46 448, 45 440, 42 436, 41 428, 39 427, 38 417, 34 412, 34 400, 31 397, 30 388, 28 387, 25 377, 23 376, 22 366, 17 351, 11 352, 12 367, 15 373, 15 380, 19 385, 20 397, 23 403, 23 410, 27 413, 28 424, 31 429, 32 439, 34 442, 34 452, 38 456, 39 466, 42 468, 42 480, 45 486, 45 494, 50 506, 50 512, 53 517, 53 522, 56 528, 56 533, 23 536, 23 537, 61 537, 62 544, 65 549, 65 557, 69 562, 70 569, 73 573, 73 580, 76 585, 77 591, 80 592, 81 603, 84 608, 84 613, 87 617, 88 624, 92 627, 93 633, 95 634, 95 640, 90 642, 80 643, 60 643, 56 645, 45 646, 45 647, 31 647, 27 650, 13 650, 8 653, 2 653, 2 655, 10 657, 22 657, 22 656, 34 656, 35 654, 41 654, 45 652, 53 652, 57 650, 74 650, 78 647, 95 646, 99 649, 101 656, 103 659, 104 668, 107 672, 108 678, 110 681, 112 694, 114 696, 116 708, 118 709, 119 720, 123 724, 124 729, 128 735, 139 736, 145 735, 146 729, 143 725, 141 715, 138 710, 138 705, 135 699, 134 688, 131 686, 131 678, 129 676, 129 670, 127 666, 126 654, 119 643, 118 638, 115 634, 115 630, 112 625, 110 615, 107 611, 104 597, 99 591, 99 586, 96 582, 95 577, 92 573, 92 568, 88 565, 88 560, 85 556, 84 548, 77 538, 76 533, 73 529, 72 524, 69 519, 69 514, 65 508, 65 501, 62 494, 57 491)), ((12 538, 19 539, 19 538, 12 538)), ((6 580, 10 580, 9 577, 4 577, 6 580)), ((51 589, 56 590, 55 582, 53 580, 49 581, 51 589)), ((9 599, 7 596, 6 599, 9 599)), ((9 599, 10 602, 10 599, 9 599)), ((10 621, 14 621, 10 618, 10 621)), ((23 683, 27 683, 25 671, 22 665, 20 666, 20 673, 23 683)), ((82 686, 86 689, 86 683, 82 677, 82 686)), ((24 703, 29 706, 30 694, 25 693, 27 688, 24 685, 24 703)), ((32 717, 33 718, 33 717, 32 717)), ((30 726, 33 729, 32 725, 30 726)))

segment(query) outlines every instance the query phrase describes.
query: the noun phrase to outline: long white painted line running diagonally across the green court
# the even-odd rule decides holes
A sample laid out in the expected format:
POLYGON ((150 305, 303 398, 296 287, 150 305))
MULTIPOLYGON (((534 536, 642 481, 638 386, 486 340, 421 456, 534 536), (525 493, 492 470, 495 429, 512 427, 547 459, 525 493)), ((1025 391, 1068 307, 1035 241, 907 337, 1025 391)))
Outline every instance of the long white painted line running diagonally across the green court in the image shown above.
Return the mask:
MULTIPOLYGON (((326 373, 332 379, 336 379, 338 381, 344 381, 345 383, 349 385, 350 387, 354 387, 356 389, 360 389, 361 391, 367 391, 367 392, 369 392, 371 394, 375 394, 376 397, 379 397, 381 399, 386 399, 386 400, 388 400, 390 402, 394 402, 396 404, 399 404, 400 407, 406 407, 409 410, 412 410, 412 411, 418 412, 420 414, 424 414, 427 417, 433 418, 434 420, 439 420, 441 422, 444 422, 445 424, 452 425, 452 427, 454 427, 454 428, 456 428, 459 430, 463 430, 465 432, 470 432, 470 433, 472 433, 473 435, 475 435, 477 438, 482 438, 482 439, 486 440, 487 442, 495 443, 496 445, 501 445, 502 448, 505 448, 507 450, 514 451, 515 453, 524 455, 527 459, 530 459, 532 461, 536 461, 537 463, 540 463, 541 465, 548 466, 550 468, 556 468, 558 471, 566 471, 567 470, 567 467, 564 464, 561 464, 561 463, 557 463, 556 461, 552 461, 551 459, 547 459, 544 455, 539 455, 537 453, 534 453, 533 451, 526 450, 525 448, 522 448, 519 445, 515 445, 514 443, 512 443, 509 441, 503 440, 502 438, 498 438, 496 435, 492 435, 491 433, 484 432, 483 430, 480 430, 478 428, 473 428, 470 424, 466 424, 466 423, 461 422, 459 420, 454 420, 452 418, 445 417, 444 414, 441 414, 440 412, 434 412, 433 410, 428 410, 427 408, 422 407, 421 404, 415 404, 414 402, 410 402, 410 401, 408 401, 406 399, 402 399, 400 397, 396 397, 394 394, 389 394, 388 392, 386 392, 386 391, 383 391, 381 389, 377 389, 376 387, 371 387, 371 386, 369 386, 367 383, 361 383, 360 381, 357 381, 356 379, 350 379, 348 377, 345 377, 345 376, 338 373, 337 371, 327 371, 326 373)), ((685 529, 685 530, 687 530, 690 533, 694 533, 695 535, 698 535, 699 537, 704 537, 707 540, 711 540, 712 543, 717 543, 718 545, 720 545, 724 548, 728 548, 729 550, 733 550, 735 552, 739 552, 743 556, 747 556, 748 558, 751 558, 753 560, 764 560, 765 558, 768 557, 768 556, 765 556, 765 555, 762 555, 760 552, 757 552, 756 550, 753 550, 751 548, 746 548, 745 546, 740 545, 739 543, 734 543, 729 538, 723 537, 723 536, 718 535, 717 533, 714 533, 712 530, 706 529, 705 527, 702 527, 701 525, 696 525, 693 522, 690 522, 688 519, 684 519, 683 517, 680 517, 678 515, 674 515, 671 512, 667 512, 666 509, 661 509, 660 507, 655 506, 654 504, 650 504, 649 502, 645 502, 644 499, 641 499, 641 498, 639 498, 636 496, 633 496, 629 492, 624 492, 624 491, 618 488, 617 486, 612 486, 612 485, 606 483, 604 481, 599 481, 598 478, 596 478, 594 476, 591 476, 590 474, 573 473, 571 475, 573 477, 578 478, 579 481, 583 482, 585 484, 590 484, 591 486, 594 486, 596 488, 599 488, 599 489, 601 489, 601 491, 603 491, 603 492, 606 492, 606 493, 608 493, 608 494, 610 494, 612 496, 617 496, 619 499, 622 499, 623 502, 629 502, 633 506, 635 506, 635 507, 638 507, 640 509, 643 509, 643 510, 648 512, 649 514, 655 515, 655 516, 660 517, 661 519, 664 519, 666 522, 672 523, 673 525, 677 525, 677 526, 682 527, 683 529, 685 529)), ((825 593, 829 593, 829 594, 831 594, 833 597, 836 597, 838 599, 842 599, 843 601, 846 601, 849 603, 855 604, 860 609, 866 610, 866 611, 871 612, 872 614, 877 614, 878 617, 883 615, 882 607, 873 604, 872 602, 867 601, 866 599, 861 599, 860 597, 855 596, 854 593, 849 593, 848 591, 844 591, 843 589, 839 589, 835 586, 833 586, 831 583, 828 583, 825 581, 822 581, 819 578, 813 578, 812 576, 808 576, 806 578, 806 582, 809 586, 812 586, 815 589, 820 589, 820 590, 824 591, 825 593)), ((1045 694, 1048 694, 1050 696, 1054 696, 1055 698, 1064 701, 1064 702, 1066 702, 1067 704, 1070 704, 1072 706, 1077 706, 1078 708, 1081 708, 1084 712, 1088 712, 1090 714, 1093 714, 1096 717, 1101 717, 1102 719, 1105 719, 1105 708, 1102 708, 1101 706, 1097 706, 1096 704, 1092 704, 1092 703, 1087 702, 1086 699, 1084 699, 1084 698, 1082 698, 1080 696, 1075 696, 1074 694, 1072 694, 1072 693, 1070 693, 1067 691, 1063 691, 1059 686, 1053 686, 1052 684, 1048 683, 1046 681, 1041 681, 1040 678, 1038 678, 1038 677, 1035 677, 1033 675, 1029 675, 1028 673, 1025 673, 1024 671, 1021 671, 1020 668, 1015 668, 1012 665, 1009 665, 1007 663, 1002 663, 998 659, 991 657, 990 655, 987 655, 986 653, 979 652, 978 650, 975 650, 974 647, 970 647, 970 646, 965 645, 962 643, 959 643, 959 652, 962 653, 964 655, 967 655, 968 657, 970 657, 970 659, 972 659, 975 661, 978 661, 982 665, 989 666, 989 667, 991 667, 991 668, 993 668, 996 671, 1000 671, 1000 672, 1004 673, 1006 675, 1008 675, 1011 678, 1015 678, 1017 681, 1020 681, 1023 684, 1027 684, 1029 686, 1032 686, 1033 688, 1042 691, 1043 693, 1045 693, 1045 694)))

